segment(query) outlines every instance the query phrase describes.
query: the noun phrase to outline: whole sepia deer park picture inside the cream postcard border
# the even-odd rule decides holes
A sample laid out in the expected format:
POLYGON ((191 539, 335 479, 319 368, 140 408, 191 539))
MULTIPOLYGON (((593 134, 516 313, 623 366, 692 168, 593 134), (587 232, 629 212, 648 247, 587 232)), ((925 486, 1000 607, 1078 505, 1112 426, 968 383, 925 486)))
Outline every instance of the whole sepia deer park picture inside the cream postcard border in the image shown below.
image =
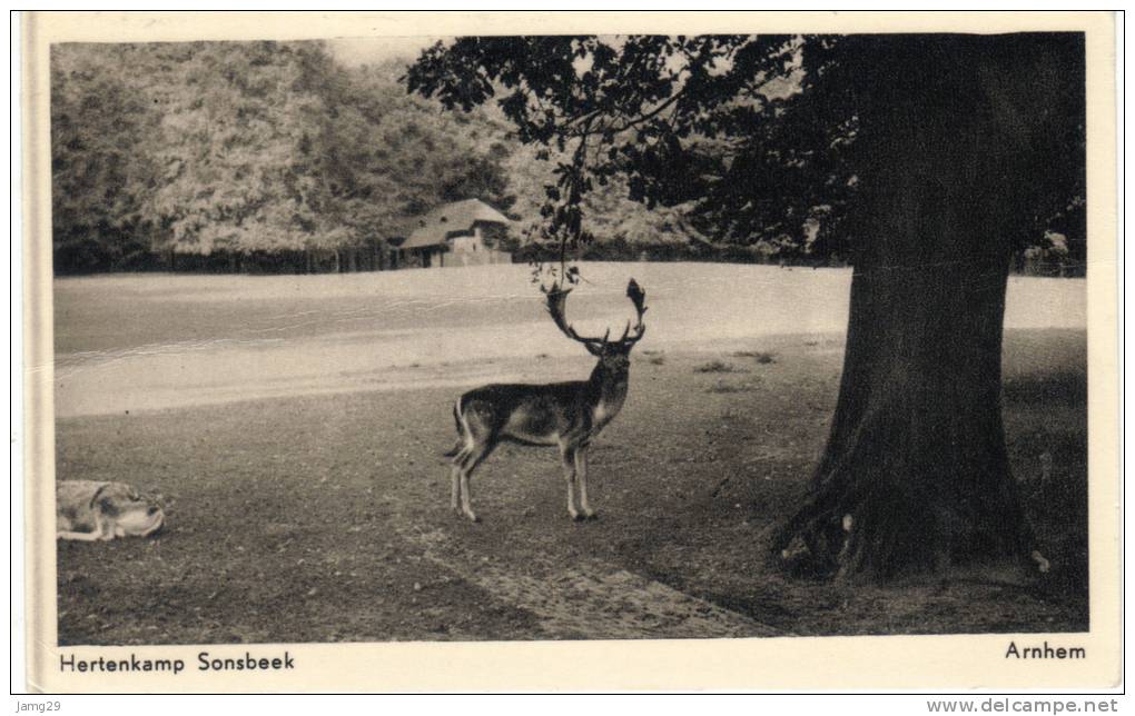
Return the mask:
POLYGON ((743 20, 50 42, 51 677, 188 645, 1086 658, 1119 566, 1091 35, 743 20))

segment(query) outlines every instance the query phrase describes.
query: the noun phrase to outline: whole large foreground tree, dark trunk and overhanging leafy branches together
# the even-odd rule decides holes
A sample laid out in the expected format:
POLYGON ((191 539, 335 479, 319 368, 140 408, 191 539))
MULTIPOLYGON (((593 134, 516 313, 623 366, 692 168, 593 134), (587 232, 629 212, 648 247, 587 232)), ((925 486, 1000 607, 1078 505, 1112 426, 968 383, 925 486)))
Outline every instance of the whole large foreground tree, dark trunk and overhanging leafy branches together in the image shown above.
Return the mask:
POLYGON ((614 176, 728 241, 855 266, 838 406, 777 537, 796 567, 888 578, 1033 550, 1001 422, 1015 247, 1084 196, 1079 34, 497 37, 410 89, 496 98, 557 152, 543 209, 587 242, 614 176))

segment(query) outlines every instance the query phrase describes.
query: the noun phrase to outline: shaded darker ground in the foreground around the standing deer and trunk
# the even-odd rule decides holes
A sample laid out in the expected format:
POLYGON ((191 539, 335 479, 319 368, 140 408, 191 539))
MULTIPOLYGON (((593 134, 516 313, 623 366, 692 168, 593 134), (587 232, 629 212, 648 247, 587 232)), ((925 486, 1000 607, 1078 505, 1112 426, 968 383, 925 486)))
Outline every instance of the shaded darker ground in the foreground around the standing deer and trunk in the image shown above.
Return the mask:
MULTIPOLYGON (((1036 583, 972 571, 886 587, 785 578, 766 559, 770 530, 823 448, 842 337, 641 347, 627 405, 591 450, 599 520, 587 523, 566 515, 554 450, 499 448, 473 479, 480 524, 449 512, 440 456, 461 391, 447 378, 586 376, 588 357, 570 351, 476 359, 465 372, 452 359, 396 365, 396 389, 61 416, 58 479, 126 481, 176 504, 155 538, 58 544, 60 643, 1086 629, 1083 330, 1006 337, 1012 467, 1053 563, 1036 583)), ((82 403, 57 394, 72 398, 82 403)))

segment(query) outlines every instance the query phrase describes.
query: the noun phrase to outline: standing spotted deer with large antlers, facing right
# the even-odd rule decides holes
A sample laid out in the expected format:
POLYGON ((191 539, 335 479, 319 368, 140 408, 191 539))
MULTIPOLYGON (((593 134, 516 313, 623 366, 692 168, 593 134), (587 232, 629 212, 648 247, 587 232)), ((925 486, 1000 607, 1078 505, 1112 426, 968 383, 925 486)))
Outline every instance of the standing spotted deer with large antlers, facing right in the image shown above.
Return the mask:
POLYGON ((457 398, 453 415, 457 423, 457 445, 446 454, 453 457, 451 506, 473 522, 469 478, 477 465, 503 440, 521 445, 556 446, 568 479, 568 514, 572 520, 591 519, 595 512, 587 502, 587 448, 591 439, 619 414, 627 399, 630 352, 642 338, 646 326, 646 293, 631 279, 627 296, 638 314, 634 326, 627 322, 622 338, 586 338, 564 318, 571 289, 553 286, 547 294, 548 313, 556 327, 572 340, 583 344, 599 359, 587 380, 546 385, 495 384, 470 390, 457 398), (575 481, 579 481, 579 509, 575 509, 575 481))

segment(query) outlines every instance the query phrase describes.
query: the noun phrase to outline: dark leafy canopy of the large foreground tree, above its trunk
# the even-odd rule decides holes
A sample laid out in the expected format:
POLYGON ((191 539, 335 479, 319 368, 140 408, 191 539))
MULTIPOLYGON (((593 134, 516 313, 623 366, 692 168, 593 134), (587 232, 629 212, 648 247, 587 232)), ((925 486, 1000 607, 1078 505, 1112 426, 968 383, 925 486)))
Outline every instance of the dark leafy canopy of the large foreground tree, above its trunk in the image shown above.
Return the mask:
POLYGON ((1073 33, 461 37, 424 51, 409 86, 465 111, 495 102, 554 163, 554 242, 587 243, 590 193, 622 180, 715 242, 826 261, 873 234, 863 187, 918 161, 897 146, 972 162, 965 191, 1003 199, 989 228, 1011 226, 1017 247, 1075 220, 1083 76, 1073 33), (986 136, 995 125, 1017 132, 986 136), (944 138, 958 130, 968 141, 944 138))

